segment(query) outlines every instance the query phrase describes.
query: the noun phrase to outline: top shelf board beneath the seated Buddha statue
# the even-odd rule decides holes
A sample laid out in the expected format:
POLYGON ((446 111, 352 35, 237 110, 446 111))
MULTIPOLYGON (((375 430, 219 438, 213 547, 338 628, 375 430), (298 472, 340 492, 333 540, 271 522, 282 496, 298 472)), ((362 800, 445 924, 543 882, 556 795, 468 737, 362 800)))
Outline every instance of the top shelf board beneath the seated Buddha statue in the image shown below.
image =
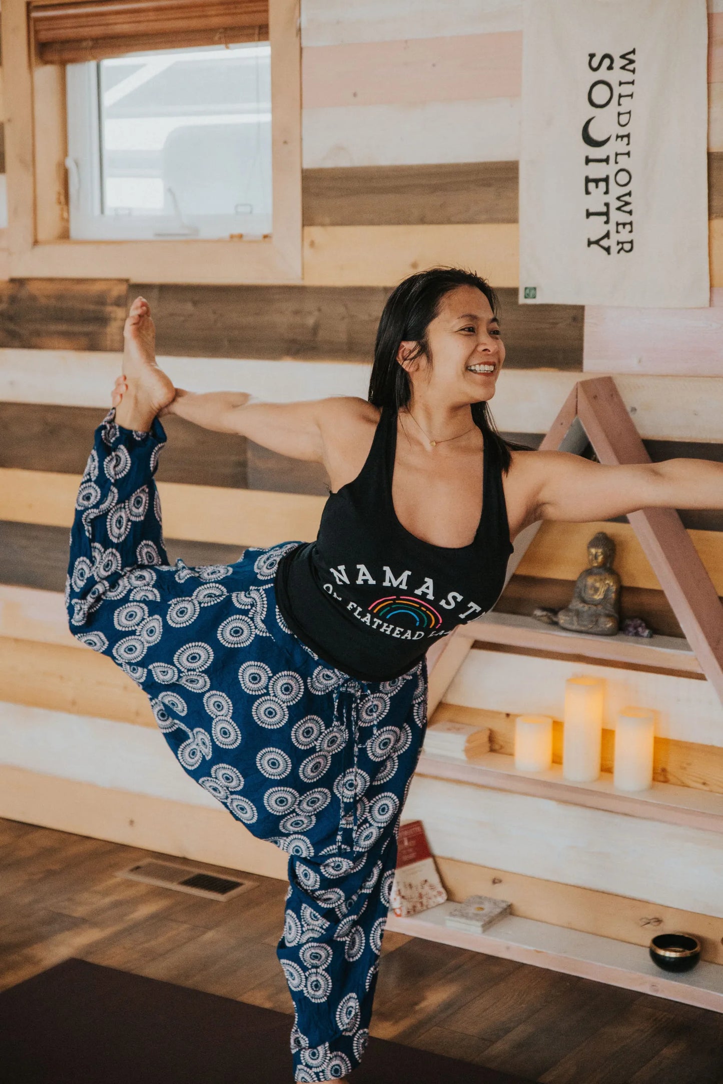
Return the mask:
POLYGON ((593 636, 568 632, 519 614, 486 614, 461 625, 463 635, 487 644, 504 644, 531 650, 564 655, 584 655, 602 662, 629 662, 657 669, 702 673, 687 640, 682 636, 653 636, 643 640, 619 632, 616 636, 593 636))

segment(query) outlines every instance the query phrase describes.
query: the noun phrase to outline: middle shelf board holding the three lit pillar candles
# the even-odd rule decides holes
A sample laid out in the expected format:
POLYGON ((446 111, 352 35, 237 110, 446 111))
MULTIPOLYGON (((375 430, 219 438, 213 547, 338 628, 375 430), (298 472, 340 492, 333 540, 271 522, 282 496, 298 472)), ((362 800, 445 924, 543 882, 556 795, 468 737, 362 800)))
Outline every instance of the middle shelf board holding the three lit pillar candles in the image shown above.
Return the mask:
POLYGON ((423 750, 416 771, 419 775, 453 783, 509 790, 532 798, 546 798, 642 817, 645 821, 662 821, 706 831, 723 831, 723 795, 708 793, 693 787, 654 783, 649 790, 617 790, 609 773, 604 773, 594 783, 570 783, 563 778, 563 769, 558 764, 554 764, 547 772, 520 772, 515 767, 514 759, 501 752, 462 760, 455 757, 429 757, 423 750))

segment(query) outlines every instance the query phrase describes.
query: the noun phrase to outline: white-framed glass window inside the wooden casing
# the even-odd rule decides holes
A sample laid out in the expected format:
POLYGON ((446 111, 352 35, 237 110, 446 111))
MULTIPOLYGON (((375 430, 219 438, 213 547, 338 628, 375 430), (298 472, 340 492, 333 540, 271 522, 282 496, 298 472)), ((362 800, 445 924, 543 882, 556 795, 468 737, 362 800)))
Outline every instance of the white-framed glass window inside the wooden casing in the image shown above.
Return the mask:
POLYGON ((73 240, 271 233, 271 49, 175 49, 66 68, 73 240))

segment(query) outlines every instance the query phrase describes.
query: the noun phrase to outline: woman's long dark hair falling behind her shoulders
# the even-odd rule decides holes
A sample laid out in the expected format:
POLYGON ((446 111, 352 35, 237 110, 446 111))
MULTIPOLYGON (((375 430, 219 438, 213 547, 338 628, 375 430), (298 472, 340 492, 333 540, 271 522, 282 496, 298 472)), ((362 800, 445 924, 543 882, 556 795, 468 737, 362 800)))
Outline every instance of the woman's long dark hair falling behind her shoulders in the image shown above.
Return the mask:
MULTIPOLYGON (((444 295, 457 286, 474 286, 479 289, 490 302, 494 315, 498 315, 500 300, 487 280, 474 271, 461 268, 430 268, 428 271, 419 271, 418 274, 404 279, 391 292, 379 320, 369 383, 367 399, 375 406, 391 406, 393 410, 409 406, 412 382, 397 361, 399 345, 405 340, 414 341, 417 348, 413 359, 422 354, 429 358, 427 328, 439 314, 444 295)), ((472 416, 485 435, 485 447, 495 450, 506 474, 512 463, 511 449, 522 446, 514 444, 500 435, 487 402, 473 403, 472 416)))

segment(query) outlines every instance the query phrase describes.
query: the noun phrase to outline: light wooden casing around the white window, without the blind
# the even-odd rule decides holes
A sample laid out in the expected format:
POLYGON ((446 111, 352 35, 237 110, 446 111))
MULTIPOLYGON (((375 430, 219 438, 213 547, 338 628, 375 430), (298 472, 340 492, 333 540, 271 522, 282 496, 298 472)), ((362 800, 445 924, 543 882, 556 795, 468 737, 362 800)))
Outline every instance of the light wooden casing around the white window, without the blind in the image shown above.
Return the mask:
POLYGON ((29 0, 2 0, 8 260, 12 278, 157 283, 300 283, 299 0, 269 0, 272 234, 262 240, 72 241, 65 68, 30 56, 29 0))

